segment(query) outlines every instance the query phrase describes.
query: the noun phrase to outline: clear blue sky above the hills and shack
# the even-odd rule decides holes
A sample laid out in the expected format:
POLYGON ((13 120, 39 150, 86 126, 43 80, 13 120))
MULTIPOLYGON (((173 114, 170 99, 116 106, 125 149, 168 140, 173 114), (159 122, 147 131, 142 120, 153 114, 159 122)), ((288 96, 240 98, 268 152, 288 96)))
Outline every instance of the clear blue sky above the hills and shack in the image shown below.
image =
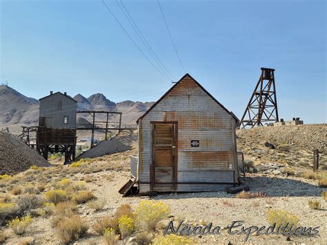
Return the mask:
MULTIPOLYGON (((101 0, 0 2, 0 81, 24 95, 155 101, 172 86, 101 0)), ((326 1, 160 2, 186 72, 238 117, 260 68, 269 67, 281 118, 327 122, 326 1)), ((106 3, 148 55, 116 1, 106 3)), ((157 1, 123 3, 162 63, 182 77, 157 1)))

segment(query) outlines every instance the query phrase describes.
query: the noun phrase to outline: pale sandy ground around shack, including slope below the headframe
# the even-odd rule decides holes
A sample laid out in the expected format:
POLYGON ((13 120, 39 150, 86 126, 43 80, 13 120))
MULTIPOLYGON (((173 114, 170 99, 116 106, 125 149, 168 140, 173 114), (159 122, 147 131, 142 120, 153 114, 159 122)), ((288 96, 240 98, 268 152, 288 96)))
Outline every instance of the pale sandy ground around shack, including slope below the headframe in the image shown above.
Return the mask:
MULTIPOLYGON (((272 129, 273 130, 273 129, 272 129)), ((252 134, 255 131, 250 131, 252 134)), ((244 151, 248 160, 255 161, 255 165, 262 163, 275 163, 283 169, 285 166, 296 171, 295 175, 288 175, 282 170, 275 175, 272 173, 247 173, 247 177, 241 179, 250 187, 250 193, 267 193, 267 197, 255 197, 239 199, 236 195, 226 192, 212 193, 160 193, 154 197, 139 197, 129 195, 121 197, 119 188, 129 179, 130 155, 137 155, 135 144, 132 149, 123 153, 103 155, 88 161, 89 164, 77 168, 70 166, 54 166, 41 170, 27 170, 14 175, 8 181, 0 180, 1 194, 11 195, 15 186, 24 189, 28 184, 37 186, 39 183, 46 184, 46 189, 37 196, 44 197, 44 193, 54 188, 54 184, 60 179, 69 178, 72 182, 84 180, 86 188, 103 200, 105 206, 95 212, 88 204, 79 204, 77 214, 80 215, 90 229, 84 237, 80 237, 74 244, 102 244, 103 239, 92 230, 97 218, 110 217, 121 204, 130 204, 135 208, 143 199, 160 200, 170 207, 170 220, 174 220, 175 226, 184 220, 187 224, 208 224, 221 226, 220 235, 197 235, 195 238, 199 244, 327 244, 327 201, 321 197, 326 188, 317 186, 316 179, 301 177, 302 173, 310 172, 312 156, 310 149, 299 147, 297 144, 287 142, 286 139, 275 139, 273 144, 283 144, 283 148, 270 149, 264 146, 266 139, 260 139, 251 134, 238 136, 238 147, 244 151), (283 143, 281 143, 283 141, 283 143), (287 147, 286 147, 287 145, 287 147), (286 150, 285 150, 286 148, 286 150), (304 154, 307 151, 307 155, 304 154), (305 161, 306 164, 301 164, 305 161), (309 200, 318 200, 321 203, 319 210, 309 207, 309 200), (267 210, 286 210, 299 217, 301 226, 319 226, 319 233, 314 236, 308 235, 256 235, 252 234, 246 241, 246 235, 229 235, 228 226, 234 221, 244 221, 245 228, 250 226, 267 226, 267 210)), ((254 133, 256 134, 256 133, 254 133)), ((326 135, 325 135, 326 136, 326 135)), ((268 136, 270 137, 270 136, 268 136)), ((326 151, 321 150, 322 166, 326 165, 326 151)), ((325 167, 324 167, 325 169, 325 167)), ((326 176, 326 170, 324 172, 326 176)), ((12 199, 19 195, 11 195, 12 199)), ((0 227, 5 235, 6 244, 21 244, 26 237, 32 237, 34 244, 60 244, 55 228, 51 227, 52 217, 33 217, 33 222, 28 232, 23 235, 14 235, 8 227, 0 227)), ((169 223, 165 219, 163 227, 169 223)), ((162 233, 161 229, 159 233, 162 233)), ((121 244, 121 241, 119 242, 121 244)), ((132 242, 128 242, 132 244, 132 242)))

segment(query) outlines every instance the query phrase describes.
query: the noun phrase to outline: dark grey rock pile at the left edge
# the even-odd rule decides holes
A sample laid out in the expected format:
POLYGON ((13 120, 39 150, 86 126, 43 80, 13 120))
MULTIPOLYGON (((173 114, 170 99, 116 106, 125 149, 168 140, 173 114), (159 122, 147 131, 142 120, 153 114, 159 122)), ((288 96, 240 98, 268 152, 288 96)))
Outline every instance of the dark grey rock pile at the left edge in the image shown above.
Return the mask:
POLYGON ((14 175, 28 170, 30 166, 47 167, 51 164, 21 139, 0 132, 0 175, 14 175))

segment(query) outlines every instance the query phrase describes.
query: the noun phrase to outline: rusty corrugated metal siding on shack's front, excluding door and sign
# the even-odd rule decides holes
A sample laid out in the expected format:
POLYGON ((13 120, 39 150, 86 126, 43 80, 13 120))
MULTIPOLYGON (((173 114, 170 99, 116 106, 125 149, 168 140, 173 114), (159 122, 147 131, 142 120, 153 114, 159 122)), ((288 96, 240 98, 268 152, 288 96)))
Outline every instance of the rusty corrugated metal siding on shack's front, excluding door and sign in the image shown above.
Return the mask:
MULTIPOLYGON (((150 182, 152 159, 150 121, 178 122, 177 182, 234 181, 232 172, 219 171, 237 171, 234 119, 192 79, 186 77, 139 121, 139 180, 146 183, 150 182), (198 148, 190 146, 191 139, 199 140, 198 148)), ((187 186, 177 185, 177 191, 192 190, 187 186)), ((217 189, 212 185, 191 186, 194 190, 217 189)), ((146 191, 150 185, 140 184, 140 192, 146 191)))

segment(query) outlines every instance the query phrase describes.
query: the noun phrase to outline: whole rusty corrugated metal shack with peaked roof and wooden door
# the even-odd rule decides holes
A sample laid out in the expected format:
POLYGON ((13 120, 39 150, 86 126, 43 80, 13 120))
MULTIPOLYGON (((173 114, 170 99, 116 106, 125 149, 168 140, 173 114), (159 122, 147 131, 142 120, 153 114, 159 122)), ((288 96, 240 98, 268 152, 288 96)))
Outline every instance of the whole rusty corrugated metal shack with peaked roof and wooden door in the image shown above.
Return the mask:
POLYGON ((138 120, 139 193, 239 183, 237 117, 186 74, 138 120))

